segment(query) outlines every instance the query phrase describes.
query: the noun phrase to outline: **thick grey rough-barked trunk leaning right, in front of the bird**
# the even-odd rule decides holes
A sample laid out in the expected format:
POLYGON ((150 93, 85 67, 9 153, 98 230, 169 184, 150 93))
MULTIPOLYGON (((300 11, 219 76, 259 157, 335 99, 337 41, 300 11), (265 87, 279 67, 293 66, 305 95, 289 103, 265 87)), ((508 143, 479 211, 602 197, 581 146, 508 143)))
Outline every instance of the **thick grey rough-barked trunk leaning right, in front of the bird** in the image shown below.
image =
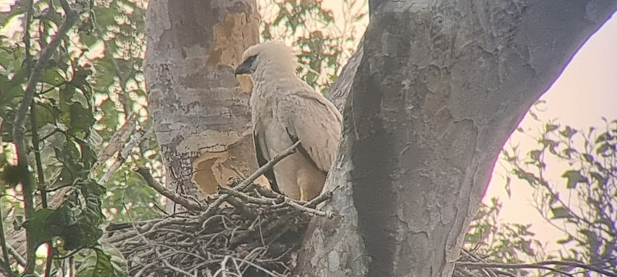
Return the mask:
POLYGON ((325 209, 340 216, 313 220, 296 271, 451 276, 503 143, 617 1, 371 9, 353 81, 334 87, 353 92, 326 181, 325 209))

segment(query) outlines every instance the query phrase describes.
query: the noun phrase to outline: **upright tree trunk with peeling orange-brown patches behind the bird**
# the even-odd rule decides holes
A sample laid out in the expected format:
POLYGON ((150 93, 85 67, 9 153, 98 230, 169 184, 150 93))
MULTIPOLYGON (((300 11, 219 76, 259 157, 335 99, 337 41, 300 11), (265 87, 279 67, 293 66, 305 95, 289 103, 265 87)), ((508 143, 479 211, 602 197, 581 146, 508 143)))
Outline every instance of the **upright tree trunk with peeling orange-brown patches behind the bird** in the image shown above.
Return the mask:
POLYGON ((150 1, 144 71, 168 188, 207 195, 256 169, 250 81, 241 89, 233 70, 258 26, 255 0, 150 1))

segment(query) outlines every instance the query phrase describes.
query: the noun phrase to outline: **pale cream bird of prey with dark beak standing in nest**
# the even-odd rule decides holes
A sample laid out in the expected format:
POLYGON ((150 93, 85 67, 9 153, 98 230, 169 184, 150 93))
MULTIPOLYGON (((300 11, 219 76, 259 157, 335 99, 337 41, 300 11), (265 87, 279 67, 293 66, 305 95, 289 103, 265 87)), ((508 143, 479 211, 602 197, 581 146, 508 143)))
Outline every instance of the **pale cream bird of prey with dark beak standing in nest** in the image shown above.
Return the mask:
POLYGON ((249 74, 253 82, 249 106, 259 166, 300 140, 295 153, 263 175, 289 198, 319 196, 341 140, 341 113, 297 76, 296 52, 284 42, 255 44, 242 59, 234 75, 249 74))

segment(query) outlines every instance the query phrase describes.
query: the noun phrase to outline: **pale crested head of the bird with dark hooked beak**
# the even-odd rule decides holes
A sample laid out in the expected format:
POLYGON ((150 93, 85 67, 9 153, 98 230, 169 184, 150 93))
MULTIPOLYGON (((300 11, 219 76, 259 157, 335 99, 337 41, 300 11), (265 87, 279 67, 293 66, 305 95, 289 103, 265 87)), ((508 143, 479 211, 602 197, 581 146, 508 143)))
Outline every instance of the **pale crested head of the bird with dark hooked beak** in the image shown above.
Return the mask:
POLYGON ((295 74, 298 65, 295 50, 281 41, 255 44, 244 51, 242 60, 234 71, 235 75, 252 74, 255 71, 265 71, 266 68, 295 74))

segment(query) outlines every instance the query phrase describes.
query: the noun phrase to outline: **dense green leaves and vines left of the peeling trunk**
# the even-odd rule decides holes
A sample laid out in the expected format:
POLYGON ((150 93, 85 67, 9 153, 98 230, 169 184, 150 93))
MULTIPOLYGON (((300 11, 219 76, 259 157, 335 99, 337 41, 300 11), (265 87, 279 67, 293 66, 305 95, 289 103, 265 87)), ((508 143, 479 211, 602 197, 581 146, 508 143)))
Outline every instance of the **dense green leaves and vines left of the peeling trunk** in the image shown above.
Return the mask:
MULTIPOLYGON (((47 244, 48 256, 69 257, 97 246, 108 220, 158 216, 159 195, 131 170, 161 167, 154 138, 145 132, 145 7, 146 1, 133 0, 18 1, 0 14, 2 33, 10 36, 0 45, 0 183, 4 195, 12 196, 2 199, 2 228, 25 228, 30 245, 21 253, 28 265, 3 253, 12 270, 33 270, 31 257, 41 244, 47 244), (71 12, 77 15, 74 26, 71 12), (34 97, 20 148, 13 129, 28 89, 34 97), (121 135, 121 129, 128 132, 121 135), (135 138, 138 145, 128 148, 135 138), (26 153, 26 159, 16 164, 15 153, 26 153), (28 180, 36 182, 35 198, 28 198, 34 192, 25 186, 28 180)), ((20 241, 19 233, 6 235, 20 241)), ((101 249, 93 250, 96 265, 108 256, 101 249)), ((51 261, 41 270, 51 270, 51 261)), ((8 267, 2 271, 14 275, 8 267)))

